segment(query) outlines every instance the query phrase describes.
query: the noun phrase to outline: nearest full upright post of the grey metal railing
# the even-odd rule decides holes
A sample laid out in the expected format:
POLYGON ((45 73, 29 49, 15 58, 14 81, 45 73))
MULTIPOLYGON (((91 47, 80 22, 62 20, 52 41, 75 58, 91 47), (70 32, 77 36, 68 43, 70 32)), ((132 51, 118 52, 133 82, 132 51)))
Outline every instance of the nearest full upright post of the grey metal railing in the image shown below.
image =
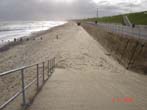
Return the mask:
POLYGON ((22 81, 22 101, 23 106, 26 106, 26 96, 25 96, 25 82, 24 82, 24 69, 21 69, 21 81, 22 81))

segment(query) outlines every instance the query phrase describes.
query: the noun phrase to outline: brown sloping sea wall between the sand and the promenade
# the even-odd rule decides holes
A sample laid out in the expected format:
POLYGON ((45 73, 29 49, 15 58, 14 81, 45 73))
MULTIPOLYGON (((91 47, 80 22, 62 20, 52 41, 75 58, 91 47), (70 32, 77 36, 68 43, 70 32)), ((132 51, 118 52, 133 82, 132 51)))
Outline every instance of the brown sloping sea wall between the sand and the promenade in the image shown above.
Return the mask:
POLYGON ((146 40, 107 32, 87 23, 82 23, 82 27, 124 67, 147 74, 146 40))

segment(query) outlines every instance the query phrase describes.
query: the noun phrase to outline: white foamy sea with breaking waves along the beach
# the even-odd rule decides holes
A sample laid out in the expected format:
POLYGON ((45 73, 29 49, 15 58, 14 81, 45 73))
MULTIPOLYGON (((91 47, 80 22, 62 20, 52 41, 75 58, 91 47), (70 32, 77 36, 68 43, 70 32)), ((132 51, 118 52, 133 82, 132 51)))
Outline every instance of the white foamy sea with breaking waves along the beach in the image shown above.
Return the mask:
POLYGON ((0 45, 13 41, 14 38, 28 37, 33 33, 45 31, 66 21, 5 21, 0 22, 0 45))

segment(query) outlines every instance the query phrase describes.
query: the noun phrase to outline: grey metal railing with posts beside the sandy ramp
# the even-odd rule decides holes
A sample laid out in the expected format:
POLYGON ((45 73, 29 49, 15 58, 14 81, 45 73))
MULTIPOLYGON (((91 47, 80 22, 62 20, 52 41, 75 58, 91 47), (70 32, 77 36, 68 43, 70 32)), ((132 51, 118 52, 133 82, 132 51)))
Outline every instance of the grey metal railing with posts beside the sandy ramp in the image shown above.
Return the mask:
MULTIPOLYGON (((33 65, 29 65, 29 66, 24 66, 24 67, 21 67, 21 68, 17 68, 17 69, 14 69, 14 70, 10 70, 10 71, 7 71, 7 72, 3 72, 3 73, 0 73, 0 77, 2 76, 6 76, 6 75, 10 75, 10 74, 13 74, 14 72, 19 72, 19 74, 21 74, 21 90, 17 91, 17 93, 15 93, 15 95, 13 95, 11 98, 9 98, 5 103, 3 103, 1 106, 0 106, 0 110, 3 110, 4 108, 6 108, 12 101, 14 101, 18 96, 22 95, 22 105, 24 108, 27 107, 27 103, 26 103, 26 90, 32 85, 34 84, 35 82, 37 82, 36 86, 37 86, 37 92, 39 91, 40 89, 40 86, 39 86, 39 79, 40 77, 42 76, 42 80, 43 80, 43 83, 42 83, 42 86, 44 85, 44 82, 46 81, 45 80, 45 63, 46 62, 41 62, 41 63, 36 63, 36 64, 33 64, 33 65), (42 65, 42 75, 39 75, 39 65, 42 65), (31 67, 35 67, 36 66, 36 78, 34 80, 32 80, 29 84, 25 85, 25 78, 24 78, 24 70, 27 69, 27 68, 31 68, 31 67)), ((52 73, 54 72, 54 69, 55 69, 55 58, 52 58, 51 60, 48 60, 47 61, 47 73, 48 73, 48 78, 52 75, 52 73)))

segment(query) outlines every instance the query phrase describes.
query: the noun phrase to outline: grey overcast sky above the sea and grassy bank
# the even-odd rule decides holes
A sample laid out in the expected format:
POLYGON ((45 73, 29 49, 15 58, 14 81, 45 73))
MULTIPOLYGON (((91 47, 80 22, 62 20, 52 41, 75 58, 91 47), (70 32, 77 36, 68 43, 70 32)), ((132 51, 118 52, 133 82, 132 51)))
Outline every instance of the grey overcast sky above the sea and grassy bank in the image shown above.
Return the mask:
POLYGON ((0 20, 60 20, 147 10, 147 0, 0 0, 0 20))

